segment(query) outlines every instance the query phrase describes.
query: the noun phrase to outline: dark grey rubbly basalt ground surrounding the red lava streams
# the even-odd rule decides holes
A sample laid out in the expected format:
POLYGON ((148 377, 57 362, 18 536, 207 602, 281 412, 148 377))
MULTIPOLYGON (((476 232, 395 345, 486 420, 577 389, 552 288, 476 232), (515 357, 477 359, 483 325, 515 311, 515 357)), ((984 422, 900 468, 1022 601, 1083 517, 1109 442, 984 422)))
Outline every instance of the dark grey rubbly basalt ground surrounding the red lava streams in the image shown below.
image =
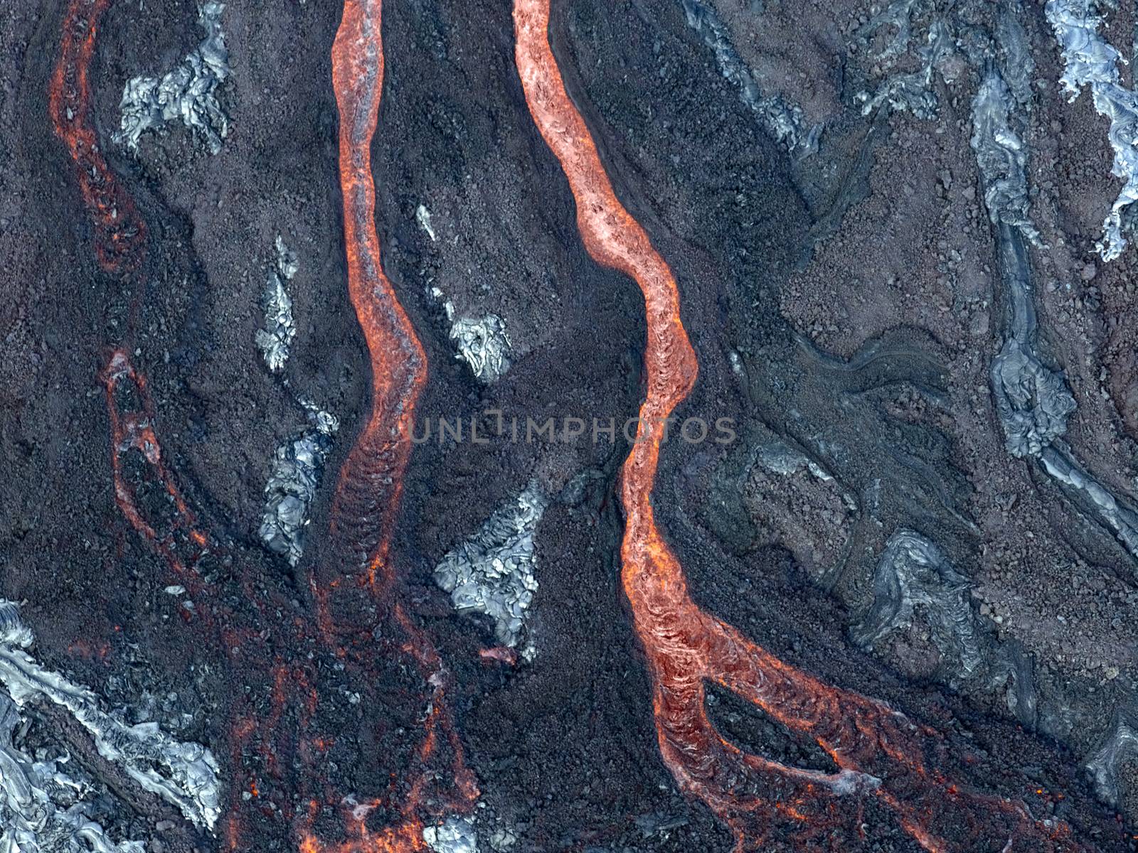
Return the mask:
MULTIPOLYGON (((1133 848, 1138 761, 1116 734, 1138 701, 1136 555, 1041 462, 1008 453, 992 394, 992 359, 1009 334, 1006 257, 984 206, 972 105, 986 71, 1001 61, 1006 71, 1007 59, 992 49, 978 65, 958 47, 932 74, 931 116, 863 115, 857 96, 918 69, 934 20, 951 22, 958 45, 995 40, 1000 15, 1022 27, 1033 68, 1019 133, 1041 238, 1024 248, 1034 351, 1077 404, 1067 452, 1133 504, 1138 249, 1108 263, 1095 252, 1121 185, 1108 122, 1089 92, 1067 101, 1039 3, 913 5, 912 39, 887 61, 898 31, 866 28, 877 6, 699 0, 760 88, 800 107, 805 127, 823 126, 802 157, 720 73, 690 25, 693 3, 563 0, 551 25, 618 197, 679 282, 700 381, 676 414, 729 417, 737 433, 729 445, 671 440, 661 455, 653 504, 693 597, 786 663, 945 732, 950 751, 968 754, 960 763, 974 788, 1062 818, 1088 848, 1133 848), (776 470, 765 448, 800 462, 776 470), (947 568, 925 577, 921 588, 932 591, 902 608, 908 618, 869 630, 874 614, 898 610, 881 598, 904 594, 880 565, 899 531, 934 544, 947 568), (954 645, 962 624, 967 654, 954 645), (1110 763, 1097 785, 1086 768, 1096 755, 1110 763)), ((143 135, 134 155, 113 144, 125 80, 160 76, 201 33, 184 0, 110 6, 90 84, 104 154, 148 226, 143 266, 130 279, 100 268, 48 118, 65 7, 0 9, 0 597, 22 603, 36 660, 108 707, 176 694, 152 719, 182 720, 179 739, 217 756, 226 809, 255 838, 238 848, 296 850, 292 818, 307 809, 300 771, 274 777, 266 755, 242 754, 234 726, 272 714, 286 729, 300 724, 299 699, 275 704, 273 660, 258 657, 258 643, 283 644, 278 652, 296 660, 313 646, 265 621, 247 590, 283 603, 282 623, 314 623, 306 578, 339 558, 327 537, 336 472, 370 405, 337 174, 329 50, 340 5, 225 7, 232 74, 218 92, 232 127, 213 156, 180 124, 143 135), (287 381, 254 342, 278 234, 299 264, 287 381), (164 591, 183 580, 116 505, 99 376, 131 324, 162 457, 216 546, 199 564, 216 586, 214 618, 232 619, 240 640, 187 615, 181 602, 192 594, 164 591), (273 449, 307 423, 298 396, 340 426, 294 568, 263 546, 258 528, 273 449), (257 792, 242 798, 249 779, 257 792)), ((1132 9, 1102 7, 1099 32, 1130 57, 1132 9)), ((568 182, 522 96, 510 6, 388 2, 384 41, 376 222, 386 273, 427 351, 419 420, 478 417, 492 432, 484 413, 495 409, 522 423, 634 417, 643 300, 582 245, 568 182), (437 239, 417 221, 420 205, 437 239), (501 379, 479 383, 455 357, 431 288, 462 315, 504 320, 512 364, 501 379)), ((391 544, 407 610, 450 671, 481 790, 480 850, 495 850, 495 827, 516 837, 514 851, 731 850, 729 828, 681 793, 658 751, 619 577, 616 483, 627 445, 594 444, 587 432, 568 444, 506 438, 418 446, 391 544), (535 480, 551 497, 527 615, 537 655, 511 666, 479 655, 495 645, 493 626, 456 614, 432 571, 535 480)), ((165 492, 142 488, 150 473, 125 469, 143 503, 162 507, 165 492)), ((415 761, 427 690, 399 643, 376 629, 372 707, 318 711, 337 737, 325 781, 341 794, 374 796, 415 761)), ((307 660, 339 684, 331 656, 307 660)), ((352 678, 361 676, 343 677, 347 691, 352 678)), ((830 769, 815 744, 736 697, 712 693, 708 704, 721 734, 749 752, 830 769)), ((117 837, 151 851, 229 848, 221 826, 211 834, 182 820, 59 713, 26 713, 35 738, 56 732, 107 787, 104 826, 117 837)), ((840 838, 834 848, 921 848, 872 797, 863 805, 868 840, 840 838)), ((987 838, 982 850, 1005 840, 987 838)), ((795 845, 770 837, 762 848, 795 845)))

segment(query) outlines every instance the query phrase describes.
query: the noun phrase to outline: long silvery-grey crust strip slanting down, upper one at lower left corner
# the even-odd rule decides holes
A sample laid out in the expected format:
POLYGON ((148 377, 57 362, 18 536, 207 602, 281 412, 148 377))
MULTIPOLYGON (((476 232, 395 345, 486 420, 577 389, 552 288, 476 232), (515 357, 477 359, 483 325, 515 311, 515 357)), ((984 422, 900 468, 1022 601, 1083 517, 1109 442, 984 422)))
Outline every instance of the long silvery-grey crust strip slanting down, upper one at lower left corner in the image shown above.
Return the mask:
POLYGON ((211 752, 174 740, 155 722, 127 726, 106 713, 91 690, 40 666, 24 651, 31 644, 16 605, 0 599, 0 682, 16 705, 40 699, 66 709, 94 738, 100 755, 178 806, 187 820, 212 829, 221 815, 221 785, 211 752))

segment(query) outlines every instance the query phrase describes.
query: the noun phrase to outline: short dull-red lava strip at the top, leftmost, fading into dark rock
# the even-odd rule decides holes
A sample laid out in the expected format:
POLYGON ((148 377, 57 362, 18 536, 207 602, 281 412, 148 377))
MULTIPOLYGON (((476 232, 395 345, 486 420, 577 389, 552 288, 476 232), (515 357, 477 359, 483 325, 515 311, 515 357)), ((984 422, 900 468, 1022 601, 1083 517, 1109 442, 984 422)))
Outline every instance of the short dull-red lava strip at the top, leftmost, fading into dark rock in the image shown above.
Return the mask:
POLYGON ((110 0, 71 0, 64 17, 59 61, 48 91, 56 135, 75 162, 80 189, 94 220, 94 249, 108 272, 126 272, 141 259, 146 230, 134 202, 119 188, 99 151, 91 124, 88 73, 94 53, 99 18, 110 0))

